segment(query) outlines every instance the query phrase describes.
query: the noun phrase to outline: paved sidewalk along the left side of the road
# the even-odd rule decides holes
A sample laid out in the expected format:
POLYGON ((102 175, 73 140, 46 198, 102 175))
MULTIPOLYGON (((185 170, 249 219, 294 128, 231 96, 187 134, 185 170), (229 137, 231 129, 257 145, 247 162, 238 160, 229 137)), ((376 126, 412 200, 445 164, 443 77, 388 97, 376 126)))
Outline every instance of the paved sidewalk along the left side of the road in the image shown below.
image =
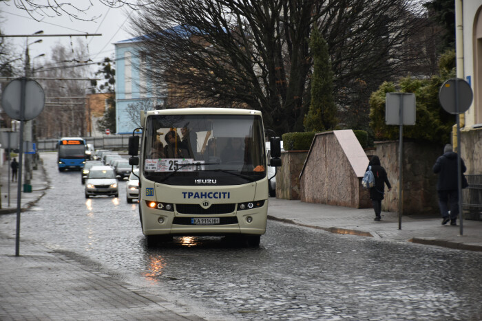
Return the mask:
MULTIPOLYGON (((8 164, 1 168, 1 214, 17 213, 17 183, 8 164)), ((45 194, 49 182, 39 164, 33 171, 32 192, 21 192, 21 211, 45 194)), ((204 320, 160 296, 82 265, 71 258, 21 240, 0 230, 0 320, 204 320)))

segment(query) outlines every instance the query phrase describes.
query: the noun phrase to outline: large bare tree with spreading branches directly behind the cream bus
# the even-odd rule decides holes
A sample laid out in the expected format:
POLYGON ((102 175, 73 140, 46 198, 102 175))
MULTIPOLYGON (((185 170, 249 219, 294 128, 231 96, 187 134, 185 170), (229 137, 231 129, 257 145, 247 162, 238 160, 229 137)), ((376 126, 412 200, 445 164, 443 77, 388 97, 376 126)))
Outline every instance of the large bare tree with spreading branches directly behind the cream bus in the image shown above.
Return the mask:
POLYGON ((260 109, 281 134, 303 130, 314 23, 328 43, 337 105, 357 109, 368 105, 360 93, 406 73, 417 54, 404 47, 425 21, 414 2, 160 0, 133 23, 159 86, 200 104, 260 109))

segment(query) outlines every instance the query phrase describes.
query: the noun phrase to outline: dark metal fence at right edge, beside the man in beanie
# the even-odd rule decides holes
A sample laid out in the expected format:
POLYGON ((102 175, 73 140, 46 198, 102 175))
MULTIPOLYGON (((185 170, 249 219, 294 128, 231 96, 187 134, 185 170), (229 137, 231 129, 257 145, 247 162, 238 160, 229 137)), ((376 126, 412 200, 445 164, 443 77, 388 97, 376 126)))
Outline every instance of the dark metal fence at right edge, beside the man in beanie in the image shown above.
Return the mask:
POLYGON ((465 219, 482 220, 482 175, 465 175, 468 188, 462 190, 462 210, 465 219))

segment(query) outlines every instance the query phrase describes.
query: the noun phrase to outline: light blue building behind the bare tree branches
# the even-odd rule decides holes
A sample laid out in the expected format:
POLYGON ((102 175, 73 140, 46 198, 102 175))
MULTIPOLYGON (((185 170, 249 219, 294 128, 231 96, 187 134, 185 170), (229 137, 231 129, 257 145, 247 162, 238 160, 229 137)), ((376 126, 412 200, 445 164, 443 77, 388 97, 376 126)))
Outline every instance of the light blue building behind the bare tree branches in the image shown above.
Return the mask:
POLYGON ((117 134, 132 134, 139 127, 140 110, 163 105, 166 94, 149 80, 146 55, 140 48, 142 37, 114 43, 116 52, 117 134))

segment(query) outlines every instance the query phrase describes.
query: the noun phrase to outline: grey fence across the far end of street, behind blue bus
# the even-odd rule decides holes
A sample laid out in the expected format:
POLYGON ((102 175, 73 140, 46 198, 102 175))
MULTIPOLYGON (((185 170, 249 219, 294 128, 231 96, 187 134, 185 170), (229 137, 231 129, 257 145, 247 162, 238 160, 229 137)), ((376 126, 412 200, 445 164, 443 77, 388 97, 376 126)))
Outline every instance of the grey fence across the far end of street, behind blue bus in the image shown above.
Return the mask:
MULTIPOLYGON (((93 144, 95 149, 112 149, 127 151, 131 135, 104 135, 102 137, 85 137, 87 144, 93 144)), ((37 151, 56 151, 59 140, 37 140, 37 151)))

